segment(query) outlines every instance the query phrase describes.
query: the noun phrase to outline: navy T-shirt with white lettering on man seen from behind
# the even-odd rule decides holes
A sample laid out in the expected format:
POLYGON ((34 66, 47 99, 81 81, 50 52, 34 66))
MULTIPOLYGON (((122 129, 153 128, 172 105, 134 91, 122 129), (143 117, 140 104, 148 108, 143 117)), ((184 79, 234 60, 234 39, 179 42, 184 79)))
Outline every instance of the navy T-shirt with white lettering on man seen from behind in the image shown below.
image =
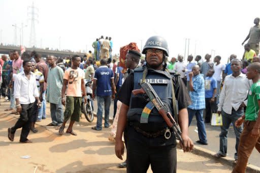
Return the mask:
POLYGON ((96 81, 96 95, 109 96, 112 95, 111 79, 114 78, 113 71, 107 66, 103 65, 96 68, 94 79, 96 81))

